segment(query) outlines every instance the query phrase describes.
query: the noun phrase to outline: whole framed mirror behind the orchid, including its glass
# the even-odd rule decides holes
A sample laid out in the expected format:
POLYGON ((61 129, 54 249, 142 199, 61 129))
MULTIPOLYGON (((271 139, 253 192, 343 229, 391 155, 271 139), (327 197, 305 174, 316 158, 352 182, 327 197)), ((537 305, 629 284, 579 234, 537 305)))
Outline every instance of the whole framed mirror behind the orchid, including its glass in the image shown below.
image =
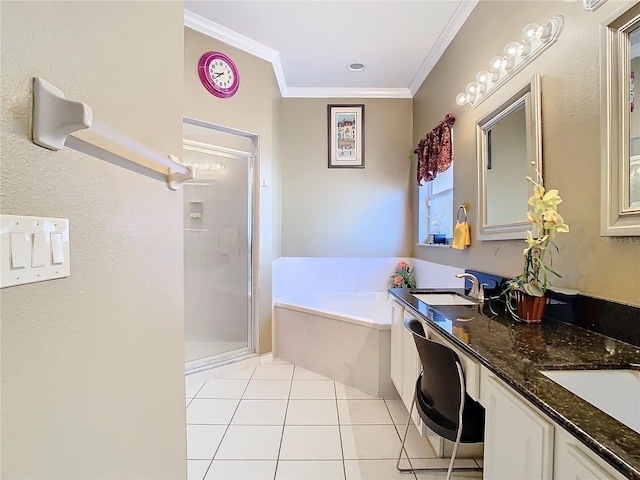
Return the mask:
POLYGON ((478 240, 525 238, 535 168, 542 171, 540 76, 477 123, 478 240), (534 162, 533 164, 531 162, 534 162))

